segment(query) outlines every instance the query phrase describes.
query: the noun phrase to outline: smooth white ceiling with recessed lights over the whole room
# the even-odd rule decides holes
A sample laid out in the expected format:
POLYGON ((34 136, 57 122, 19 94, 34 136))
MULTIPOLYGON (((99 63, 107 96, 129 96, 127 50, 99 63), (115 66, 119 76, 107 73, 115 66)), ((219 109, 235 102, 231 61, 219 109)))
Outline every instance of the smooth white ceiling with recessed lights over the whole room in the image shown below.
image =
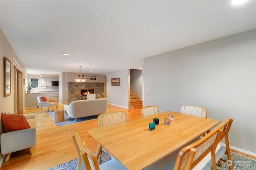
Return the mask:
POLYGON ((28 74, 79 72, 79 65, 91 74, 140 69, 146 57, 256 28, 255 0, 243 6, 229 0, 1 0, 0 6, 0 27, 28 74))

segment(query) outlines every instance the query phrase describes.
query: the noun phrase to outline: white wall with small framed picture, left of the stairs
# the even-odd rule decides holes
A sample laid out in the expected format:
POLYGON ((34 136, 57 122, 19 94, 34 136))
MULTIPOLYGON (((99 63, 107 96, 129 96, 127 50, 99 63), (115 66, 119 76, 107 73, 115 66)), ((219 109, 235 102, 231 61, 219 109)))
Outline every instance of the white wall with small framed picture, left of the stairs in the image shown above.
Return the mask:
POLYGON ((109 104, 128 108, 130 70, 119 70, 104 74, 107 78, 107 99, 109 104), (111 78, 120 78, 120 86, 111 86, 111 78), (129 87, 129 88, 128 88, 129 87))

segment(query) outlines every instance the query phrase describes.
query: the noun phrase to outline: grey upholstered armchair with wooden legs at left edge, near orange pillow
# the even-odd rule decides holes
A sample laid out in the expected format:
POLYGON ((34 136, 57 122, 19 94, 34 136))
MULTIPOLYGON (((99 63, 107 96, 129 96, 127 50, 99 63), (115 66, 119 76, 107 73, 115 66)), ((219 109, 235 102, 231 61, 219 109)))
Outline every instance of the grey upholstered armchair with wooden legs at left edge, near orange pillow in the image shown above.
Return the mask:
MULTIPOLYGON (((4 155, 6 154, 5 162, 7 162, 11 156, 12 152, 16 152, 18 150, 23 150, 23 149, 28 149, 30 151, 30 154, 34 154, 34 150, 32 147, 36 145, 36 118, 34 114, 26 114, 26 115, 17 115, 17 114, 12 114, 10 115, 11 117, 6 118, 6 121, 9 121, 12 119, 12 116, 18 117, 19 120, 22 121, 22 125, 17 123, 17 122, 12 122, 15 123, 10 128, 14 128, 14 126, 20 126, 19 129, 21 130, 16 130, 16 131, 10 131, 6 133, 2 133, 0 136, 0 142, 1 142, 1 153, 4 155), (26 117, 24 118, 22 117, 26 117), (24 125, 24 122, 28 123, 30 128, 27 127, 26 123, 24 125), (22 129, 25 126, 26 129, 22 129)), ((16 118, 14 118, 16 119, 16 118)), ((17 120, 17 119, 16 119, 17 120)), ((2 121, 3 120, 3 113, 2 113, 2 121)), ((4 129, 7 129, 6 123, 4 123, 4 129)), ((9 128, 9 129, 10 129, 9 128)))

